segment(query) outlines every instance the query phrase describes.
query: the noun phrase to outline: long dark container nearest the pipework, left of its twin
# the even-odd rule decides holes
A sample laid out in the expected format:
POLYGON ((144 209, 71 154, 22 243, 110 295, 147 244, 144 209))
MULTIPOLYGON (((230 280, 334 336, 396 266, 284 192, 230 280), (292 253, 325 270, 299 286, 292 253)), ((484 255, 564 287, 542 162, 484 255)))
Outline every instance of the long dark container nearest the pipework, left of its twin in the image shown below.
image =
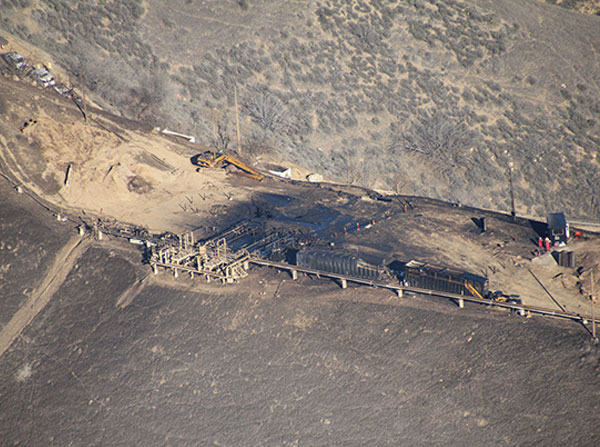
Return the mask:
POLYGON ((363 261, 351 253, 308 249, 296 253, 296 265, 356 278, 382 280, 385 269, 363 261))

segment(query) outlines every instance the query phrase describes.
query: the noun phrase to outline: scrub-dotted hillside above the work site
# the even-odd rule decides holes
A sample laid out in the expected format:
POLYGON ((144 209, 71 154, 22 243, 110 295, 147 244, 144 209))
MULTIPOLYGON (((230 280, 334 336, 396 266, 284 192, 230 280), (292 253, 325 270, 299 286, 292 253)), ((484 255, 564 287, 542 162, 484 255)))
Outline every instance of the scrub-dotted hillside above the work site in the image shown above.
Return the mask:
POLYGON ((596 3, 9 1, 0 26, 107 110, 219 148, 237 88, 246 153, 504 211, 512 167, 520 214, 598 220, 596 3))

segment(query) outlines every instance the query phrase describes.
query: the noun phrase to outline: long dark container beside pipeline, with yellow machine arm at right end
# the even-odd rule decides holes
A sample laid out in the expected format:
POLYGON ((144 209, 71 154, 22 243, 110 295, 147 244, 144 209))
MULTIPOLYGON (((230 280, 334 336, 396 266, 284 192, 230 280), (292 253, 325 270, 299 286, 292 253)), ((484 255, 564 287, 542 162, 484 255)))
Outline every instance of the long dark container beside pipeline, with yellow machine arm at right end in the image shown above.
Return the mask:
POLYGON ((426 262, 407 262, 400 272, 400 278, 406 286, 419 289, 439 290, 457 295, 479 294, 480 297, 485 297, 488 293, 486 277, 426 262), (473 292, 473 289, 476 292, 473 292))

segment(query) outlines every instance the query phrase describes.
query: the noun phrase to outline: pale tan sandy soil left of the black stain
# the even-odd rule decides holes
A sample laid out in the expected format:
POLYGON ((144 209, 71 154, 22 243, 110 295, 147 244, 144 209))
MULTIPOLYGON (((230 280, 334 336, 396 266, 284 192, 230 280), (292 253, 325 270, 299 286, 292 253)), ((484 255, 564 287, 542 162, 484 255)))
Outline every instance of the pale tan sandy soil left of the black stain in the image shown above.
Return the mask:
POLYGON ((198 149, 154 131, 116 127, 91 108, 84 122, 73 103, 52 91, 11 81, 0 88, 11 103, 0 137, 3 164, 58 206, 180 232, 210 217, 212 207, 247 200, 247 190, 231 184, 224 170, 195 171, 190 157, 198 149), (21 131, 29 119, 36 123, 21 131))

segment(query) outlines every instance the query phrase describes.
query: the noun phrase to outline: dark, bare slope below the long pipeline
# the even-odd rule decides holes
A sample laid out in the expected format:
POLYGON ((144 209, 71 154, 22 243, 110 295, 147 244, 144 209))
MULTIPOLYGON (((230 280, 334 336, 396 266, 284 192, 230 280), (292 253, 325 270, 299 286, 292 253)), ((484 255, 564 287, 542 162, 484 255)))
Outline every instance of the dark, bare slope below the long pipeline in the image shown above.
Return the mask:
MULTIPOLYGON (((3 199, 2 238, 46 247, 42 272, 72 230, 54 227, 3 199)), ((14 265, 2 321, 33 268, 14 265)), ((576 324, 267 269, 232 287, 163 278, 117 308, 141 274, 111 245, 78 261, 0 358, 1 445, 600 443, 600 354, 576 324)))

